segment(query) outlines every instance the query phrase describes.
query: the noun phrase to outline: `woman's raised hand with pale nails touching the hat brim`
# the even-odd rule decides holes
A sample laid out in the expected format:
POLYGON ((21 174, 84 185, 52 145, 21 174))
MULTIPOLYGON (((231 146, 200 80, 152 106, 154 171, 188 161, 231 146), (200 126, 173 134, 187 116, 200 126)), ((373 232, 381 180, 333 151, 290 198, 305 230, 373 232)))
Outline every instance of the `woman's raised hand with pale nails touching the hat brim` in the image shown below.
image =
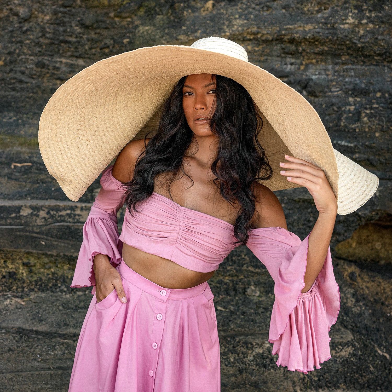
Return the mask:
POLYGON ((338 202, 331 185, 322 169, 303 159, 285 155, 289 162, 280 162, 287 180, 306 187, 314 199, 314 204, 323 214, 337 214, 338 202), (287 170, 292 169, 292 170, 287 170))

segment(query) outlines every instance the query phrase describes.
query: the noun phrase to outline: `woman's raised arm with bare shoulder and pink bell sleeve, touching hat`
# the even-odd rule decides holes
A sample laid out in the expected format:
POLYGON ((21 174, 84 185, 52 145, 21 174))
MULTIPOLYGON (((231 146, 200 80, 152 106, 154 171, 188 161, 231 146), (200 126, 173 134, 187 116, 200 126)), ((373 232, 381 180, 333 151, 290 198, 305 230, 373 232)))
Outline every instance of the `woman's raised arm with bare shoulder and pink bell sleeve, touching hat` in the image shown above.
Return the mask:
POLYGON ((250 230, 247 246, 275 282, 269 342, 274 343, 272 354, 279 355, 276 363, 306 374, 330 358, 328 332, 340 309, 329 247, 337 203, 321 169, 318 171, 322 174, 299 158, 292 162, 288 167, 302 170, 289 173, 293 173, 292 178, 297 176, 295 182, 308 187, 318 207, 314 228, 301 241, 287 230, 278 198, 259 185, 255 192, 260 201, 256 203, 258 219, 250 230), (305 177, 312 179, 314 186, 305 177))

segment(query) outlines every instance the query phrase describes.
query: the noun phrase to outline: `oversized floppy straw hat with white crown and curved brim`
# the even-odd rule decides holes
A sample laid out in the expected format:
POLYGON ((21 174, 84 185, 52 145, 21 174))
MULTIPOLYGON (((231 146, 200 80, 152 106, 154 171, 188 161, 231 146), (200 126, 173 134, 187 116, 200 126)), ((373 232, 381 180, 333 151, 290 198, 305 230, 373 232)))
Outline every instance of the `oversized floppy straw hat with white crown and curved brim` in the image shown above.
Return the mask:
POLYGON ((77 201, 132 139, 156 133, 162 105, 185 75, 211 73, 240 83, 263 119, 260 142, 273 169, 260 181, 272 191, 297 188, 280 175, 284 154, 317 165, 338 201, 338 214, 355 211, 378 178, 332 147, 316 110, 296 90, 248 61, 245 49, 207 37, 191 46, 157 45, 100 60, 61 85, 42 112, 42 159, 67 197, 77 201))

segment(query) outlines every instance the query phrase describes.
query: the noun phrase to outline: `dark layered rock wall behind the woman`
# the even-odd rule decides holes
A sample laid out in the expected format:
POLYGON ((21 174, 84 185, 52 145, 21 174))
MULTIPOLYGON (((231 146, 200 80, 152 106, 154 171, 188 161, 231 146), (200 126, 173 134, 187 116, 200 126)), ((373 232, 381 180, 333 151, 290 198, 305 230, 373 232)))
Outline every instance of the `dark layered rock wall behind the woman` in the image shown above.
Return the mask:
MULTIPOLYGON (((216 35, 243 45, 250 62, 307 98, 334 148, 380 180, 363 207, 337 217, 330 248, 342 309, 331 329, 332 359, 315 372, 305 376, 273 363, 265 343, 271 281, 245 247, 230 254, 211 280, 222 389, 388 390, 391 16, 392 4, 384 0, 1 0, 2 385, 66 390, 91 298, 87 291, 71 291, 69 283, 99 178, 74 203, 49 176, 37 140, 45 104, 65 80, 102 58, 216 35)), ((297 188, 276 194, 289 230, 305 238, 317 219, 309 192, 297 188)))

